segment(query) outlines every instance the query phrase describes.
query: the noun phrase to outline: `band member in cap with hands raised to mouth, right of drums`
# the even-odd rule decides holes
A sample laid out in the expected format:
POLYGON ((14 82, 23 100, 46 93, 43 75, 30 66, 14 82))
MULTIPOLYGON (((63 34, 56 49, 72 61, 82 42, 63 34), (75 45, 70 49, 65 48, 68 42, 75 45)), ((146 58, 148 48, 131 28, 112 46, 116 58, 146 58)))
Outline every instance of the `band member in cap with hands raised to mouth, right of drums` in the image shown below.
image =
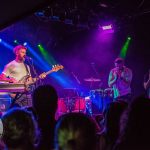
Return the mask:
POLYGON ((130 102, 132 71, 124 65, 124 59, 115 59, 115 68, 109 73, 108 85, 113 89, 114 99, 130 102))

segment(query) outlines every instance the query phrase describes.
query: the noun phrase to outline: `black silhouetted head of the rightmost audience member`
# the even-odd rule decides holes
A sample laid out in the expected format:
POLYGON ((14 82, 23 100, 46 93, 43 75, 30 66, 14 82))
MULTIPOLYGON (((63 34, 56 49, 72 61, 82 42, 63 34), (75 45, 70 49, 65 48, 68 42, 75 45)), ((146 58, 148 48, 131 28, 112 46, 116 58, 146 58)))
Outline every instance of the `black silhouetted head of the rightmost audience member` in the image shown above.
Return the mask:
MULTIPOLYGON (((144 96, 137 97, 130 106, 127 130, 134 137, 147 137, 150 135, 150 100, 144 96)), ((131 137, 131 135, 130 135, 131 137)), ((144 140, 146 142, 147 138, 144 140)), ((150 144, 150 143, 149 143, 150 144)))

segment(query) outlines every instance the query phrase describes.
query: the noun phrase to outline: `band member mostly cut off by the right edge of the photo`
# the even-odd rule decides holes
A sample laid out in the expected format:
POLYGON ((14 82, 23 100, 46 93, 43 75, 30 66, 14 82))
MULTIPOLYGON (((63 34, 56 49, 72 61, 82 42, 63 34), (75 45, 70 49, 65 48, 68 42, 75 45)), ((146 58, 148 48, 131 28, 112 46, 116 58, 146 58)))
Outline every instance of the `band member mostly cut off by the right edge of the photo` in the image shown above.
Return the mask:
POLYGON ((150 69, 149 72, 144 76, 144 88, 146 90, 146 96, 150 98, 150 69))

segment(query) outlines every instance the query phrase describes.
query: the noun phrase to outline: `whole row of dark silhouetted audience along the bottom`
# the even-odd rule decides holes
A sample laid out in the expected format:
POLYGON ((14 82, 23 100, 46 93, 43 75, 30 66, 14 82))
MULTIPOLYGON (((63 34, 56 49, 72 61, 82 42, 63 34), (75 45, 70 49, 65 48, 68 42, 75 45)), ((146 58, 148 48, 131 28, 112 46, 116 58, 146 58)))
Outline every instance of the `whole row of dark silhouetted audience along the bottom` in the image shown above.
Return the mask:
POLYGON ((51 85, 37 87, 32 101, 33 107, 12 108, 2 115, 0 150, 150 149, 150 101, 144 96, 129 106, 110 103, 100 133, 95 120, 83 113, 67 113, 56 122, 58 96, 51 85))

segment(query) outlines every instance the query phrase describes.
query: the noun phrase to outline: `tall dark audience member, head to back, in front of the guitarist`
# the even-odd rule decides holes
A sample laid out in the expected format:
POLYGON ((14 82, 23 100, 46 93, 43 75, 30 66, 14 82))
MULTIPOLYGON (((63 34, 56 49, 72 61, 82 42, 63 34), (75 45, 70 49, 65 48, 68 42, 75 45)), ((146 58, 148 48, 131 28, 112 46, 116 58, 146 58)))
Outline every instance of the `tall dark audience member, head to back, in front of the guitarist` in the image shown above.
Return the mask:
POLYGON ((41 132, 38 150, 51 150, 54 147, 55 113, 58 103, 57 92, 51 85, 39 86, 33 91, 32 101, 41 132))

